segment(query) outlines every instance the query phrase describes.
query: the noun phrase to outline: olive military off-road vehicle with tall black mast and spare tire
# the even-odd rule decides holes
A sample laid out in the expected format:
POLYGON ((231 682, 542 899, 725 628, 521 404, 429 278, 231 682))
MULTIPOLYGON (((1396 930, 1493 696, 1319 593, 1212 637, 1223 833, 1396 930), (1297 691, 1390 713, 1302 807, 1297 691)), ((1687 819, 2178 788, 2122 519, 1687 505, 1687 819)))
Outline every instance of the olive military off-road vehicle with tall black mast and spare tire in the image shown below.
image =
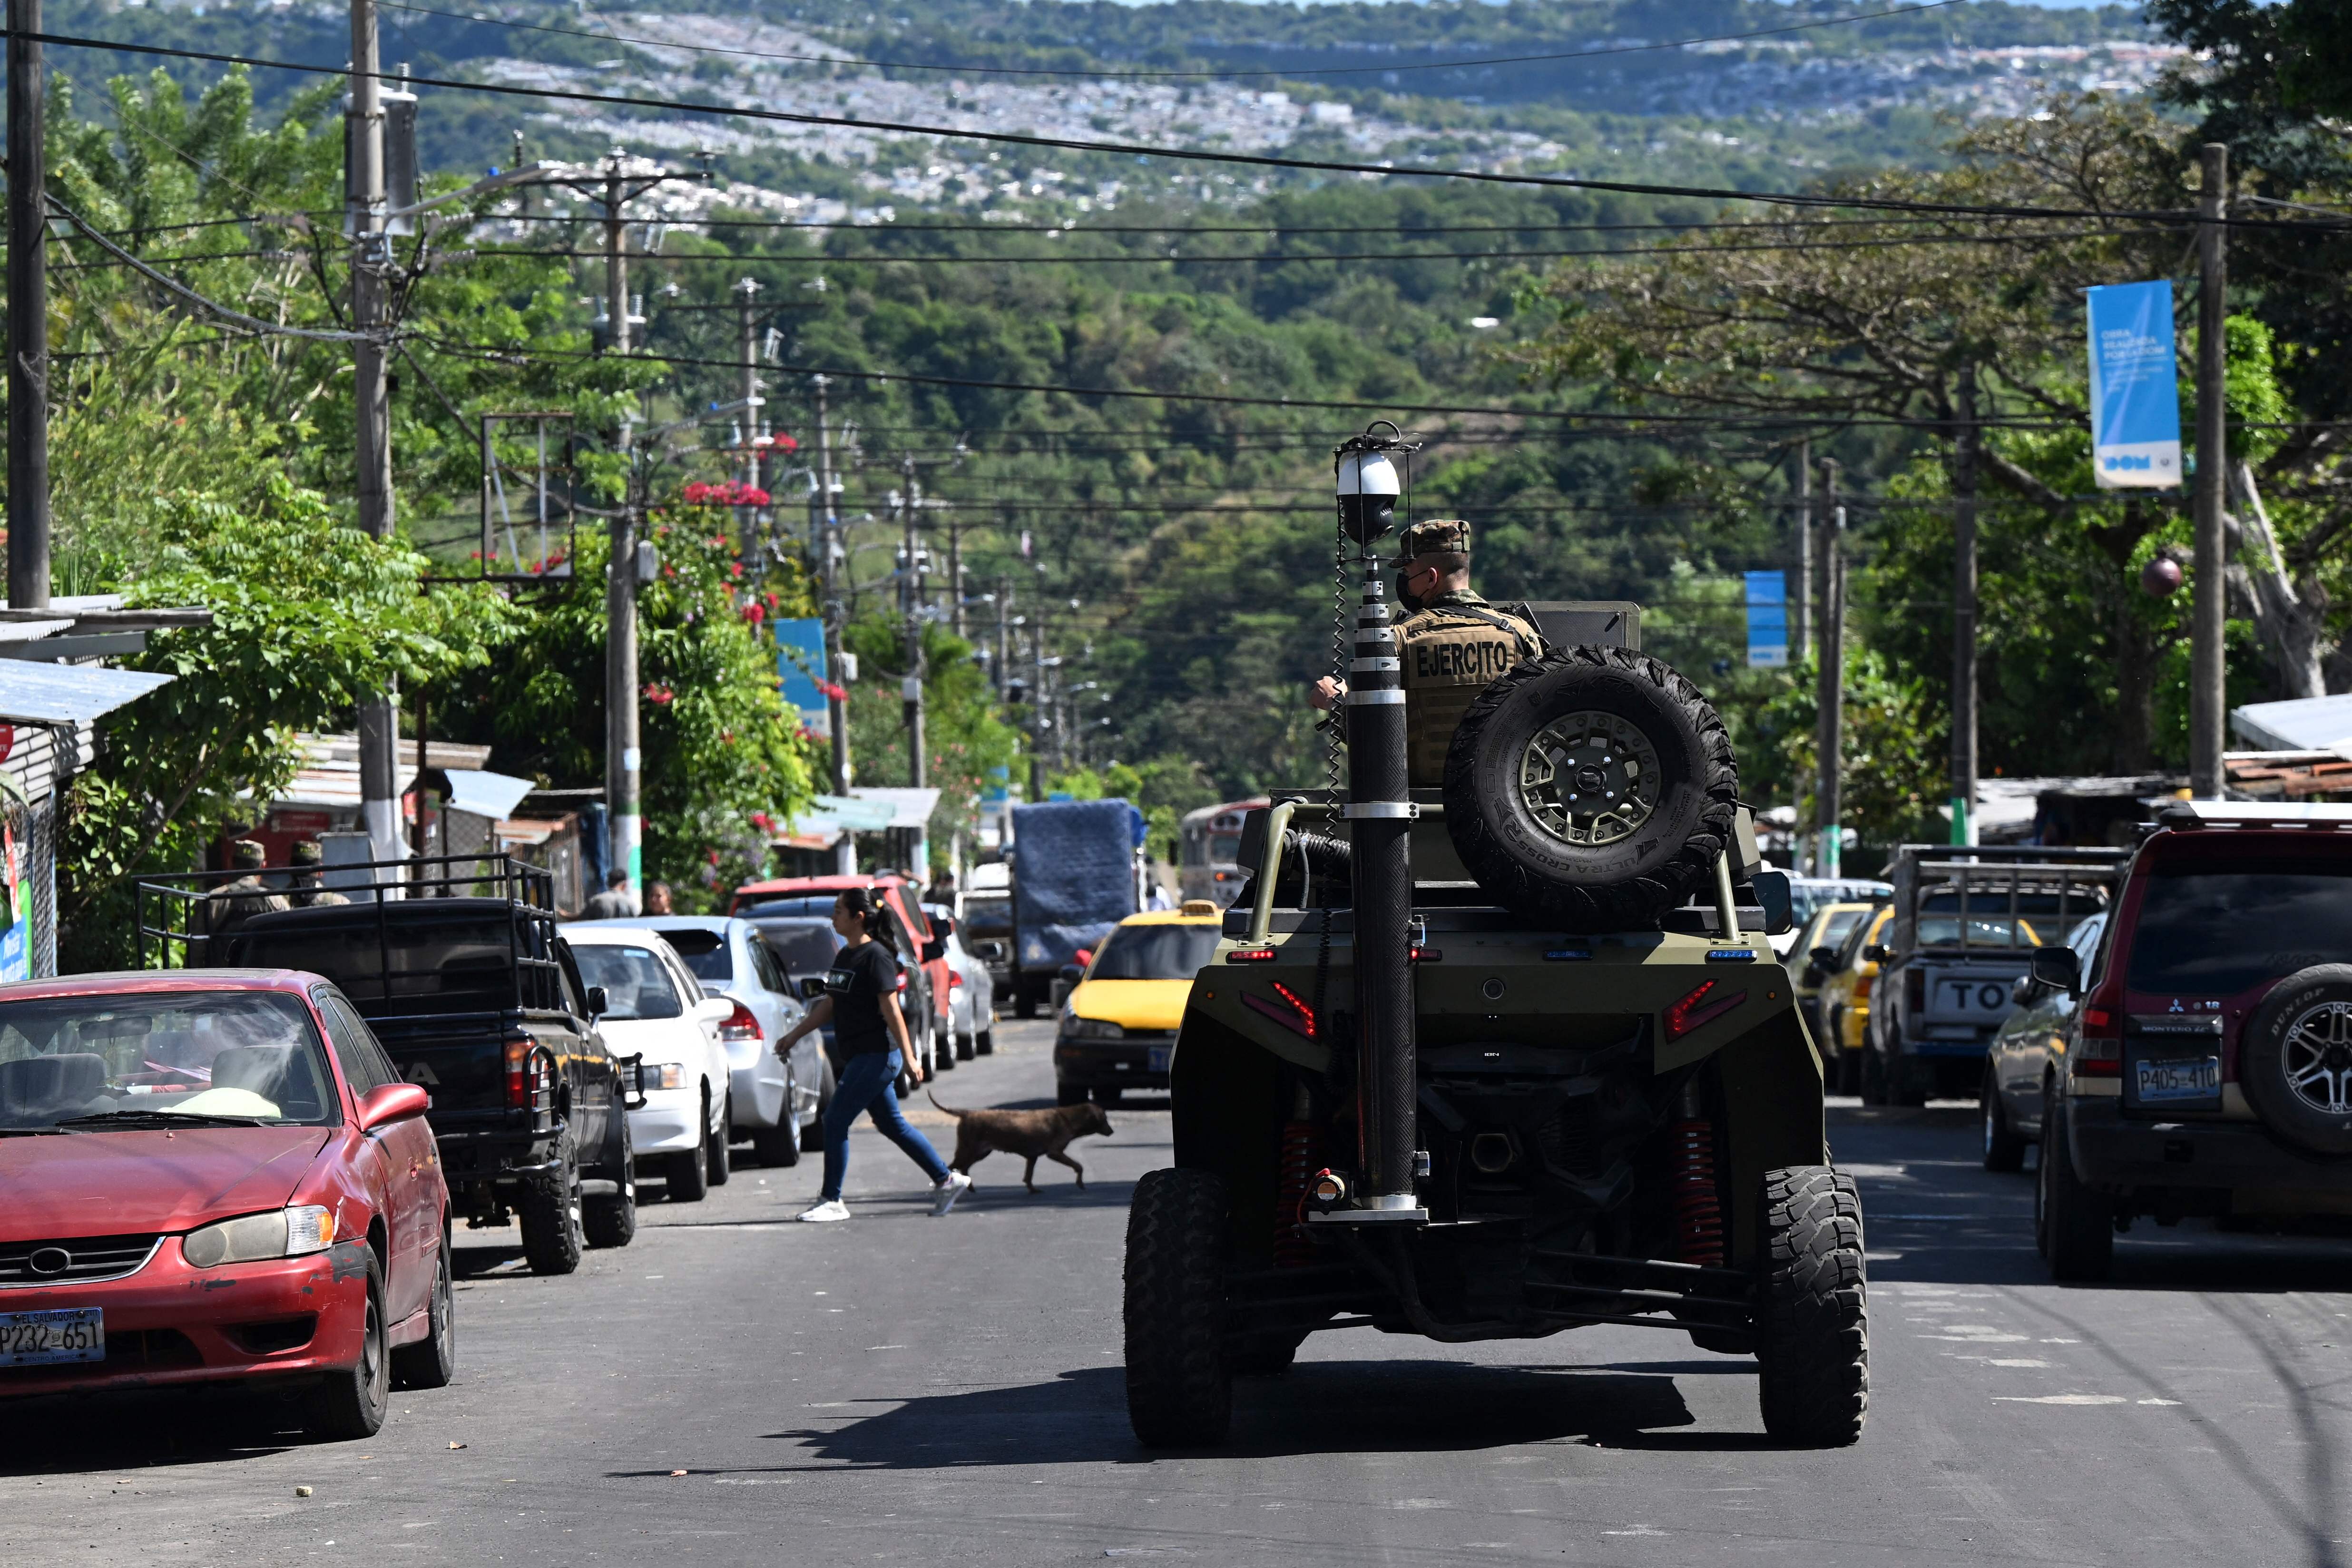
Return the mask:
POLYGON ((1724 726, 1637 646, 1555 646, 1477 698, 1442 790, 1406 790, 1381 527, 1345 494, 1374 456, 1341 449, 1350 788, 1254 816, 1178 1032, 1176 1166, 1129 1213, 1136 1436, 1223 1441, 1232 1378, 1322 1328, 1632 1324, 1755 1354, 1771 1436, 1851 1443, 1860 1199, 1724 726))

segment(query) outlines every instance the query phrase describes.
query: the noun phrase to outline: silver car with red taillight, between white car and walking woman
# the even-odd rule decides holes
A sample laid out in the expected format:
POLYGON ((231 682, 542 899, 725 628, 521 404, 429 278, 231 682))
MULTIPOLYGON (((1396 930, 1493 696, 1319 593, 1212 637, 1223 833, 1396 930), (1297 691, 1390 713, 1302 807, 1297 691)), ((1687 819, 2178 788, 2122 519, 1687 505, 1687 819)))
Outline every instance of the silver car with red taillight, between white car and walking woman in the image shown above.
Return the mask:
POLYGON ((760 926, 734 914, 644 914, 614 924, 659 931, 706 992, 734 1004, 720 1023, 720 1044, 727 1046, 727 1070, 734 1077, 729 1135, 750 1140, 762 1166, 793 1166, 804 1147, 821 1150, 816 1119, 833 1098, 826 1046, 807 1034, 793 1046, 790 1060, 776 1056, 776 1041, 807 1009, 774 950, 760 940, 760 926))

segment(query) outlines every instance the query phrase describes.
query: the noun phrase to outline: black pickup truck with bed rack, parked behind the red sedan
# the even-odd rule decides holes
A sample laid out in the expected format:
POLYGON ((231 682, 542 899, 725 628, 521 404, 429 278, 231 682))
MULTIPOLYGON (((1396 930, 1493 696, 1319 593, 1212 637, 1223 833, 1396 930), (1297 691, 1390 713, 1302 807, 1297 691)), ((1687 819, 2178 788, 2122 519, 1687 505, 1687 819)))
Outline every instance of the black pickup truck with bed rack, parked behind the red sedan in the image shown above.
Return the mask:
POLYGON ((259 910, 228 931, 207 924, 223 900, 205 877, 148 882, 143 957, 202 952, 334 980, 400 1074, 433 1095, 442 1173, 468 1225, 513 1213, 534 1274, 576 1269, 581 1241, 628 1246, 635 1058, 604 1048, 602 987, 581 983, 548 875, 503 856, 353 870, 383 882, 339 889, 350 903, 259 910))

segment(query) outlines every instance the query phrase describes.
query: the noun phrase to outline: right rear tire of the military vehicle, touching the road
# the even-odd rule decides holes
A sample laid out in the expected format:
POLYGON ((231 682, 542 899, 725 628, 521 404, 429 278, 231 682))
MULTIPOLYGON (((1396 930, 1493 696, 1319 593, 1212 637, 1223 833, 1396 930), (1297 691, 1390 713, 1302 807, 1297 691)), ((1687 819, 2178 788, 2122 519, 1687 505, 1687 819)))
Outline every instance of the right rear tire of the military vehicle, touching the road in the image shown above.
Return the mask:
POLYGON ((1863 1199, 1830 1166, 1764 1173, 1757 1399, 1783 1443, 1842 1448, 1870 1415, 1863 1199))

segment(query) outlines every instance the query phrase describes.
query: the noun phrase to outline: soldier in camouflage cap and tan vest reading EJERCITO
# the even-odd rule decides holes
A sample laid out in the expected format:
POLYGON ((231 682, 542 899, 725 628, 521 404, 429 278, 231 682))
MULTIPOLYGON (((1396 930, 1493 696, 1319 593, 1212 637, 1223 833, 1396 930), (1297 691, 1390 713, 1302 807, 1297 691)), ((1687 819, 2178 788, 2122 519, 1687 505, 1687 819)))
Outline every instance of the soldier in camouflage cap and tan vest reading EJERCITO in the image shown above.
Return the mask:
MULTIPOLYGON (((1416 790, 1446 778, 1446 748, 1470 703, 1496 677, 1543 651, 1524 618, 1470 592, 1470 524, 1416 522, 1397 541, 1397 658, 1404 665, 1404 748, 1416 790)), ((1336 708, 1348 686, 1324 675, 1308 701, 1336 708)))

